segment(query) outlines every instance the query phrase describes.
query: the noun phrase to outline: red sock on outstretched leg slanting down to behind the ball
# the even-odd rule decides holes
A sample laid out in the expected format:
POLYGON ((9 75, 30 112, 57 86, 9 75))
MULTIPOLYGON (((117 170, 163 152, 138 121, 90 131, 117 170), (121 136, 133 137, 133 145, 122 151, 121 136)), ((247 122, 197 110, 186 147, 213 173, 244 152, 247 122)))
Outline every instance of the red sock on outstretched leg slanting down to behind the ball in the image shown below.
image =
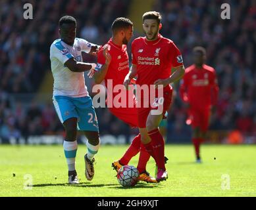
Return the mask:
POLYGON ((140 134, 134 137, 134 140, 132 140, 132 144, 130 144, 124 156, 122 156, 122 158, 119 160, 119 163, 121 165, 127 165, 130 159, 132 159, 132 157, 136 156, 136 154, 140 152, 140 144, 141 144, 140 137, 141 137, 140 134))

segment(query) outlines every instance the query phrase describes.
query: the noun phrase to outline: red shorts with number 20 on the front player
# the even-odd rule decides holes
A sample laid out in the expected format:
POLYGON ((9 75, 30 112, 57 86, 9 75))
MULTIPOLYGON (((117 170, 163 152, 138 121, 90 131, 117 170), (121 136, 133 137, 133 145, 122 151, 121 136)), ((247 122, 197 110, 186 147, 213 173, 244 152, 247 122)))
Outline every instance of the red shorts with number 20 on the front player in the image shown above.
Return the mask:
POLYGON ((149 113, 153 114, 155 112, 155 115, 162 114, 163 118, 165 118, 165 112, 170 108, 170 104, 172 104, 172 89, 168 89, 167 91, 164 91, 163 98, 155 97, 155 102, 162 104, 161 106, 157 105, 157 107, 149 106, 148 108, 137 108, 138 110, 138 127, 144 128, 146 127, 147 117, 149 116, 149 113))

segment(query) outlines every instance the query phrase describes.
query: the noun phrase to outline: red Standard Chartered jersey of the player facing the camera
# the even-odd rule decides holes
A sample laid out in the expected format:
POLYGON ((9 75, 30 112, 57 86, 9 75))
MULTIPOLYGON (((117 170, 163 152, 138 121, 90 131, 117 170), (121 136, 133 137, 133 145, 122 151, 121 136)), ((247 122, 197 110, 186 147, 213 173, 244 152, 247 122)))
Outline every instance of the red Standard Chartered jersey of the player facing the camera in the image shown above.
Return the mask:
MULTIPOLYGON (((155 41, 138 37, 132 42, 132 64, 138 71, 138 85, 153 85, 157 79, 166 79, 171 68, 183 65, 182 55, 173 41, 159 34, 155 41)), ((165 90, 171 89, 168 85, 165 90)))

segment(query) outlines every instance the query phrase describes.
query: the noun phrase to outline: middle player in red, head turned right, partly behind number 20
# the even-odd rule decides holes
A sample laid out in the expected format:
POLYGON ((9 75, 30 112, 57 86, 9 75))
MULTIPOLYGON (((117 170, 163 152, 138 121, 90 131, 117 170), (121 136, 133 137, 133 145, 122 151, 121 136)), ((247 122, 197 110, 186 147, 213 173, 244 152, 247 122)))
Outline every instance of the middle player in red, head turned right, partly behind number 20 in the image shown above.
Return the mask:
MULTIPOLYGON (((126 51, 126 45, 133 35, 133 24, 127 18, 116 18, 112 24, 113 37, 109 39, 106 45, 99 50, 97 54, 97 67, 93 74, 95 83, 99 84, 105 81, 107 87, 107 107, 110 112, 128 123, 131 127, 138 127, 138 114, 136 109, 136 98, 132 89, 126 91, 123 82, 124 77, 129 72, 129 58, 126 51), (118 87, 118 88, 116 88, 118 87), (115 89, 117 91, 115 91, 115 89), (124 95, 123 95, 124 93, 124 95), (126 102, 122 104, 118 95, 124 96, 126 102), (132 96, 129 98, 129 96, 132 96), (118 98, 119 100, 116 100, 118 98), (129 101, 130 100, 130 101, 129 101), (131 102, 129 104, 129 102, 131 102)), ((90 75, 91 73, 89 73, 90 75)), ((143 138, 149 138, 143 136, 143 138)), ((113 162, 113 167, 118 171, 122 165, 127 165, 130 159, 140 152, 138 161, 138 171, 140 172, 139 180, 145 182, 157 182, 146 171, 147 161, 150 154, 145 151, 141 144, 141 135, 139 134, 132 140, 132 144, 118 161, 113 162)))

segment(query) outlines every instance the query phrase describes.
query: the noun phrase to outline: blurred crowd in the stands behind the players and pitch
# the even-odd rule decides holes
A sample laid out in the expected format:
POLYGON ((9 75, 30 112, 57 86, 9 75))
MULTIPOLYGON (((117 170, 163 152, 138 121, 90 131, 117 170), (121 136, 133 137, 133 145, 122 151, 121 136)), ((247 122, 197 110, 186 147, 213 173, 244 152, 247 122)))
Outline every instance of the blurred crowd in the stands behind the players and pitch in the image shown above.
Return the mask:
MULTIPOLYGON (((118 16, 128 17, 128 0, 39 0, 32 3, 32 20, 24 20, 25 1, 0 1, 0 138, 63 133, 53 104, 15 100, 15 95, 34 94, 50 70, 49 46, 59 37, 58 21, 72 15, 78 21, 78 37, 104 44, 118 16)), ((256 1, 225 1, 230 20, 220 17, 222 1, 155 1, 163 16, 161 34, 176 43, 184 65, 192 64, 192 49, 207 49, 207 64, 217 71, 218 104, 211 117, 212 130, 236 130, 256 135, 256 1)), ((141 26, 139 26, 141 27, 141 26)), ((93 58, 90 56, 88 62, 93 58)), ((95 60, 94 60, 95 61, 95 60)), ((91 81, 86 78, 86 83, 91 81)), ((178 96, 168 116, 168 138, 186 138, 186 108, 178 96)), ((90 89, 90 88, 89 88, 90 89)), ((131 129, 97 109, 103 134, 129 134, 131 129)))

